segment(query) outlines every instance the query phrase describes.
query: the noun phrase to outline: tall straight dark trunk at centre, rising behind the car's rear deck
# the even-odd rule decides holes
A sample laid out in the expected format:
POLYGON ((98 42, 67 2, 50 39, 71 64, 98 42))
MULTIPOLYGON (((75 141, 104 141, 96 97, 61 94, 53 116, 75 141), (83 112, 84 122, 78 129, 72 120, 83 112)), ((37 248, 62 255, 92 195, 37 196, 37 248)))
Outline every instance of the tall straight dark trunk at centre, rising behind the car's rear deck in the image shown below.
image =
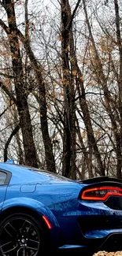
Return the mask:
POLYGON ((74 78, 72 66, 70 70, 69 56, 74 53, 72 33, 71 9, 68 0, 61 0, 61 57, 64 87, 64 138, 63 138, 63 163, 62 173, 64 176, 76 180, 76 106, 74 78))

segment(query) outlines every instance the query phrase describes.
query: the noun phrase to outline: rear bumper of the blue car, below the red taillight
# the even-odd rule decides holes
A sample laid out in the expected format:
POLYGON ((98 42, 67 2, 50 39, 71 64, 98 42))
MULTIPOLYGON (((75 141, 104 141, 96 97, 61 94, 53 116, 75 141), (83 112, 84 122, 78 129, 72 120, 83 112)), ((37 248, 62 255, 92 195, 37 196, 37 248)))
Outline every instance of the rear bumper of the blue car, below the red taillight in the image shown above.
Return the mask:
POLYGON ((57 215, 59 251, 76 250, 87 255, 98 250, 122 250, 122 210, 111 210, 103 202, 79 202, 72 211, 64 208, 57 215))

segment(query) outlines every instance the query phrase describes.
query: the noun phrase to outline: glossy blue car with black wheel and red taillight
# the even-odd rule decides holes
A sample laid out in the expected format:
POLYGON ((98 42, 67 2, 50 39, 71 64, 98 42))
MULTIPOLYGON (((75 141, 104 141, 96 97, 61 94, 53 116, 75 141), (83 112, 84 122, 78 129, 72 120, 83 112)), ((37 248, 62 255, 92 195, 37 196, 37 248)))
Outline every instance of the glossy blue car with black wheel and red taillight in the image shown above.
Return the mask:
POLYGON ((122 250, 122 181, 0 163, 0 254, 122 250))

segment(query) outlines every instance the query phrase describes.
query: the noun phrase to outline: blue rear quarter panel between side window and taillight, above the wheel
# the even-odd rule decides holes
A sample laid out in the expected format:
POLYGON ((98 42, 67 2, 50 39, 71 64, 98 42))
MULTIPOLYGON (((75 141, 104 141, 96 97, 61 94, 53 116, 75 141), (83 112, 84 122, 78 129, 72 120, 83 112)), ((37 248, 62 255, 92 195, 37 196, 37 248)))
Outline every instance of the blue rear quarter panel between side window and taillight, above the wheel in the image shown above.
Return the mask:
MULTIPOLYGON (((56 237, 61 237, 64 232, 66 236, 67 233, 69 234, 71 226, 72 231, 79 230, 76 216, 79 211, 78 195, 80 189, 81 186, 73 183, 9 185, 2 211, 15 206, 31 208, 40 216, 45 215, 50 220, 52 237, 55 233, 57 233, 56 237)), ((64 239, 65 236, 63 235, 64 239)), ((63 244, 63 242, 61 243, 63 244)))

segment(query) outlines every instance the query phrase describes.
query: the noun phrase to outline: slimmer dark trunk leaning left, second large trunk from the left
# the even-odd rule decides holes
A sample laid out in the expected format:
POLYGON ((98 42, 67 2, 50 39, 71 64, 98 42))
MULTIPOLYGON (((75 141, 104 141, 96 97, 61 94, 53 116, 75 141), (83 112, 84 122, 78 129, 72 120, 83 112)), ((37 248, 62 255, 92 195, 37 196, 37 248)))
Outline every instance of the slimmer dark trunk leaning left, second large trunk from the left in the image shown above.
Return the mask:
MULTIPOLYGON (((26 15, 27 15, 27 11, 26 11, 26 15)), ((41 131, 43 135, 43 143, 44 143, 45 155, 46 155, 46 168, 48 169, 48 171, 56 173, 53 146, 52 146, 50 135, 49 135, 48 121, 47 121, 46 87, 45 87, 45 83, 43 81, 43 75, 42 75, 43 67, 39 64, 38 59, 35 58, 35 55, 31 50, 31 45, 30 45, 28 36, 27 38, 25 38, 18 28, 16 28, 16 32, 18 37, 20 38, 20 41, 24 44, 24 48, 31 61, 31 65, 32 65, 32 68, 34 69, 36 81, 39 87, 39 97, 36 97, 36 98, 38 98, 39 108, 40 108, 40 121, 41 121, 41 131)), ((31 91, 32 91, 32 88, 31 88, 31 91)))

